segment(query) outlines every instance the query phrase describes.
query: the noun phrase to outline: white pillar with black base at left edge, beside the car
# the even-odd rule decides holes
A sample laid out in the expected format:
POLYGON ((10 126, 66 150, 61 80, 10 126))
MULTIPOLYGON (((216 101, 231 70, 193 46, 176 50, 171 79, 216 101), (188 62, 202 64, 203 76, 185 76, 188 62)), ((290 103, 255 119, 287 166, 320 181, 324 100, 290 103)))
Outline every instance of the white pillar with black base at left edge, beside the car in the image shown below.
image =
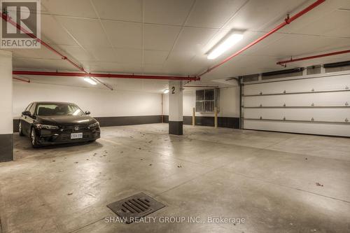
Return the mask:
POLYGON ((0 50, 0 162, 13 160, 12 53, 0 50))

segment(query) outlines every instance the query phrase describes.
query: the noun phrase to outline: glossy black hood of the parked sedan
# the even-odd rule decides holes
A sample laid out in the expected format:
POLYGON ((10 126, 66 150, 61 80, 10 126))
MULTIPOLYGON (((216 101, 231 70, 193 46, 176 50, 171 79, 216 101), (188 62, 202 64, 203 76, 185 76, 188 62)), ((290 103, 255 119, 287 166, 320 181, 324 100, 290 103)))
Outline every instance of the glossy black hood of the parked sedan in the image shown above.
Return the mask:
POLYGON ((36 120, 41 124, 53 125, 90 125, 97 122, 90 115, 38 115, 36 120))

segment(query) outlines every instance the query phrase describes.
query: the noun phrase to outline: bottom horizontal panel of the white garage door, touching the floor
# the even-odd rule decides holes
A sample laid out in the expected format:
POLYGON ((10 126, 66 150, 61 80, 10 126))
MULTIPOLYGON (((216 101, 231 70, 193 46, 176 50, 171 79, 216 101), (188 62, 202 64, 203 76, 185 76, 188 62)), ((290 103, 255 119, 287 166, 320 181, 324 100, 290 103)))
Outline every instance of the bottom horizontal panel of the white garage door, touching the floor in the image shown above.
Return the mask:
POLYGON ((321 134, 330 136, 350 136, 350 125, 328 125, 318 123, 261 122, 245 120, 244 129, 258 129, 299 134, 321 134))

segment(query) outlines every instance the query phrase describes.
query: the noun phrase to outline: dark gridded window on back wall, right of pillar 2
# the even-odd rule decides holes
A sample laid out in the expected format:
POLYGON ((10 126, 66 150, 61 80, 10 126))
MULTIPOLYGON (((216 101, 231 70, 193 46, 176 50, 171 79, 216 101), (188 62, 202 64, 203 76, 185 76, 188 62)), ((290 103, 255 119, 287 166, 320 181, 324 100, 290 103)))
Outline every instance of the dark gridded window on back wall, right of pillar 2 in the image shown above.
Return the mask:
POLYGON ((220 111, 220 89, 196 90, 197 113, 214 113, 214 109, 220 111))

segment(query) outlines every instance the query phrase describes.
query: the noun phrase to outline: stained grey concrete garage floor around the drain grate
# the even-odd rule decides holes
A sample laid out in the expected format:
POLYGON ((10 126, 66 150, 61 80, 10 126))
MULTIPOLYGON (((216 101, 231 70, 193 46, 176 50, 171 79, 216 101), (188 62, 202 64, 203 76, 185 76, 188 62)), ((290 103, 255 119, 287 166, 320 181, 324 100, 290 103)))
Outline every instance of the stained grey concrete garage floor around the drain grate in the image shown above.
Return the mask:
POLYGON ((15 134, 15 162, 0 164, 2 233, 350 232, 350 139, 167 127, 104 127, 95 143, 36 150, 15 134), (138 192, 167 205, 156 222, 245 223, 106 223, 107 204, 138 192))

